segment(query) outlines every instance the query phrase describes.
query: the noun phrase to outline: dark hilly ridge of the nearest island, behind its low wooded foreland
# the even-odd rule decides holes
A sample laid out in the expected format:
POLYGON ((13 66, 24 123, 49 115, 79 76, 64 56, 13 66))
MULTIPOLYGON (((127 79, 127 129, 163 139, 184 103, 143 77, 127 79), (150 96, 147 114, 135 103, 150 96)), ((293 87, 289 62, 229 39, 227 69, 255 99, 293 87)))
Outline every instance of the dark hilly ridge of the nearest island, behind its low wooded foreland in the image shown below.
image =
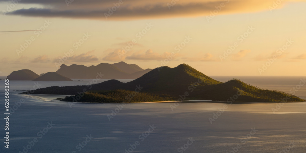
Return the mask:
MULTIPOLYGON (((181 64, 175 68, 167 66, 156 68, 128 83, 122 83, 118 80, 108 80, 91 86, 55 86, 37 89, 34 91, 34 94, 78 95, 84 89, 91 93, 97 92, 100 94, 103 94, 106 90, 140 90, 140 92, 155 94, 173 100, 196 99, 227 101, 231 97, 234 97, 235 101, 243 102, 278 102, 284 98, 287 98, 288 101, 305 101, 294 95, 258 89, 239 80, 222 83, 200 73, 186 64, 181 64)), ((90 102, 99 102, 92 101, 92 95, 90 97, 90 102)))

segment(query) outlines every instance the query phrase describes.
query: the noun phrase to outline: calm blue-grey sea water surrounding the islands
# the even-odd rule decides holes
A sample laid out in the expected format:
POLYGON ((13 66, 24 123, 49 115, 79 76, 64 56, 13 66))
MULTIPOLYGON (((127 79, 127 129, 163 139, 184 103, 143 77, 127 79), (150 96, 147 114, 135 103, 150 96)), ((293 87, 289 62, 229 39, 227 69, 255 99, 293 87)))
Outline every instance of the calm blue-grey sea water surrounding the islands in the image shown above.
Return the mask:
MULTIPOLYGON (((299 84, 300 79, 304 79, 212 77, 223 82, 238 78, 260 88, 288 93, 299 84)), ((116 109, 121 108, 118 104, 76 103, 70 107, 67 102, 54 100, 62 97, 60 95, 18 94, 37 84, 39 88, 44 88, 85 85, 89 81, 92 80, 11 81, 10 145, 6 149, 3 143, 0 152, 305 152, 305 102, 226 106, 219 103, 180 103, 176 108, 173 107, 174 103, 135 103, 122 106, 119 110, 116 109), (17 103, 22 99, 24 103, 17 103), (117 113, 114 114, 114 111, 117 113), (109 120, 107 115, 112 118, 109 120), (54 125, 51 127, 48 122, 54 125), (35 138, 37 142, 34 142, 35 138), (24 149, 26 147, 30 149, 24 149)), ((306 98, 305 86, 296 92, 297 96, 306 98)), ((4 81, 0 81, 0 96, 4 97, 3 89, 4 81)), ((1 100, 1 103, 4 101, 1 100)), ((2 113, 5 113, 3 110, 2 113)), ((0 132, 4 136, 4 119, 1 123, 0 132)), ((1 141, 4 142, 4 138, 1 141)))

